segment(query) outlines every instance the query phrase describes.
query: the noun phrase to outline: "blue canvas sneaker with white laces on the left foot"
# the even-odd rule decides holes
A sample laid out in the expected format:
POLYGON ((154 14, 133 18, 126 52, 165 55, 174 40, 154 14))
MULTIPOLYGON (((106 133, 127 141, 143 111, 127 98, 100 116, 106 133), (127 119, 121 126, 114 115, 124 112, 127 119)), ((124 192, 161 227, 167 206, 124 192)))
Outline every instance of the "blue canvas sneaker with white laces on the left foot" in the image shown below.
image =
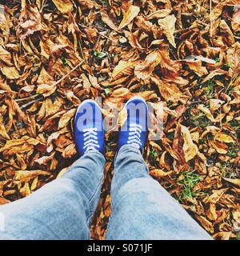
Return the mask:
POLYGON ((74 119, 74 134, 78 154, 99 151, 105 153, 102 111, 97 102, 86 100, 78 106, 74 119))

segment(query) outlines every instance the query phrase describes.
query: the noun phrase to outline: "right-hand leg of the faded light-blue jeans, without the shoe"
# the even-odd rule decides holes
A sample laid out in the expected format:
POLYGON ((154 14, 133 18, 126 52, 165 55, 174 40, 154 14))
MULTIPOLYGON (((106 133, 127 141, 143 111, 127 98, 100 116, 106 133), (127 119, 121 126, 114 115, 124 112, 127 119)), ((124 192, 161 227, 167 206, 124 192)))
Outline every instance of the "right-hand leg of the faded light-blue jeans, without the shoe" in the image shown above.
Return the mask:
POLYGON ((122 146, 115 159, 107 239, 211 239, 151 178, 139 150, 122 146))

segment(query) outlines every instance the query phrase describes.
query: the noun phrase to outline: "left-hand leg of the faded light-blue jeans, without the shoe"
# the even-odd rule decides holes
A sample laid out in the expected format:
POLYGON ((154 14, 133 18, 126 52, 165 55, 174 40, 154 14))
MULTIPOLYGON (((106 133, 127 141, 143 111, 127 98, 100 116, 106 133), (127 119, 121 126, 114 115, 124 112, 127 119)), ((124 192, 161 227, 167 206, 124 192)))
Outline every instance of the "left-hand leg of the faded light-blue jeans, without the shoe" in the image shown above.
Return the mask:
POLYGON ((0 239, 90 239, 90 218, 98 204, 104 166, 101 153, 86 153, 62 178, 0 206, 0 239))

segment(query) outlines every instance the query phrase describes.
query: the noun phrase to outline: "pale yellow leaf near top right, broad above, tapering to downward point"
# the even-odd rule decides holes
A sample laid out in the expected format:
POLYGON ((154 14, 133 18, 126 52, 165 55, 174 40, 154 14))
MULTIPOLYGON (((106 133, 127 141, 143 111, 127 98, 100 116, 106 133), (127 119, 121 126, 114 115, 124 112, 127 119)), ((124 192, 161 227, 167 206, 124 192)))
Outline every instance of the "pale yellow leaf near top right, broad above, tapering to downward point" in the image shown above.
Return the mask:
POLYGON ((162 27, 163 33, 166 35, 167 40, 170 42, 174 48, 176 48, 174 31, 175 31, 175 22, 177 18, 175 15, 166 16, 166 18, 158 19, 159 26, 162 27))

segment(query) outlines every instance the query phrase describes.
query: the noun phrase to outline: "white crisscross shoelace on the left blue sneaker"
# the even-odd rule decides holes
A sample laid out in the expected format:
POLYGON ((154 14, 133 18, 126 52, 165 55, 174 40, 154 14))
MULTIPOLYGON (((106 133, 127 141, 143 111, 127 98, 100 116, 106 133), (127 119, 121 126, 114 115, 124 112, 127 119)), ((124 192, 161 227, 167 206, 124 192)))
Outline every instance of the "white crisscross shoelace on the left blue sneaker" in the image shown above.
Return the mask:
POLYGON ((83 150, 86 149, 86 152, 89 151, 97 151, 96 147, 99 148, 98 144, 98 133, 97 133, 97 128, 86 128, 83 131, 83 140, 84 140, 84 146, 83 150))

